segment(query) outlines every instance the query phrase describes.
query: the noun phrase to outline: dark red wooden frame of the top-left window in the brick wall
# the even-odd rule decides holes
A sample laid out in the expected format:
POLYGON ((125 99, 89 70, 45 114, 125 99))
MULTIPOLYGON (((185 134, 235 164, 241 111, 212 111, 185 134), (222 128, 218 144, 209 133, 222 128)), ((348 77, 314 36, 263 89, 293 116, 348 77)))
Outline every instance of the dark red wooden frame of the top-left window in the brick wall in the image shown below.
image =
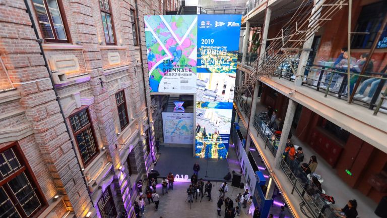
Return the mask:
MULTIPOLYGON (((66 37, 67 39, 57 39, 57 35, 56 35, 56 31, 55 31, 55 28, 53 27, 54 26, 54 22, 52 21, 52 17, 51 17, 51 14, 50 14, 50 11, 48 9, 48 4, 47 4, 47 0, 42 0, 44 2, 44 7, 46 9, 46 12, 47 12, 47 16, 48 16, 48 19, 50 21, 50 25, 51 25, 51 30, 52 30, 52 34, 54 35, 54 38, 55 39, 46 39, 44 37, 44 32, 42 30, 42 28, 39 26, 39 30, 40 30, 40 33, 42 34, 42 38, 44 40, 44 42, 49 42, 49 43, 63 43, 63 44, 71 44, 72 43, 72 40, 71 40, 71 35, 70 35, 70 29, 69 29, 69 24, 67 22, 67 18, 66 18, 66 13, 64 13, 64 8, 63 8, 63 4, 62 4, 62 0, 56 0, 56 3, 58 4, 58 8, 59 8, 59 13, 60 13, 60 18, 62 19, 62 23, 63 23, 63 28, 64 28, 64 32, 66 33, 66 37)), ((36 9, 35 9, 35 6, 34 6, 34 3, 32 2, 32 8, 35 12, 35 18, 36 20, 38 21, 39 23, 39 17, 38 17, 38 13, 36 12, 36 9)))

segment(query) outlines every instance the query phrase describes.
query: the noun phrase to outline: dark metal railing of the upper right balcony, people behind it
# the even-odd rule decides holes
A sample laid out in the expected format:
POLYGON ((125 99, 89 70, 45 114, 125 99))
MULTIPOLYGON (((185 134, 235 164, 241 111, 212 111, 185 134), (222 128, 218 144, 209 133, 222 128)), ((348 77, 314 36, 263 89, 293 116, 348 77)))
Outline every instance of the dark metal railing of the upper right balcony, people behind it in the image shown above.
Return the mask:
MULTIPOLYGON (((344 68, 335 68, 332 67, 332 65, 333 62, 319 62, 319 65, 307 65, 304 75, 302 75, 302 85, 313 88, 316 91, 323 91, 325 93, 324 97, 333 95, 338 99, 347 100, 347 69, 345 66, 344 68)), ((295 71, 298 68, 297 61, 294 62, 293 68, 295 71)), ((355 95, 353 102, 373 110, 374 115, 377 115, 380 109, 387 112, 387 88, 384 87, 387 80, 385 68, 382 72, 365 72, 364 75, 359 75, 359 72, 360 69, 358 67, 350 69, 350 93, 355 92, 363 95, 355 95), (359 77, 363 82, 355 88, 353 86, 359 77), (369 89, 368 86, 370 86, 369 89)), ((290 81, 293 81, 296 77, 296 75, 293 74, 288 61, 284 61, 280 64, 275 75, 290 81)))

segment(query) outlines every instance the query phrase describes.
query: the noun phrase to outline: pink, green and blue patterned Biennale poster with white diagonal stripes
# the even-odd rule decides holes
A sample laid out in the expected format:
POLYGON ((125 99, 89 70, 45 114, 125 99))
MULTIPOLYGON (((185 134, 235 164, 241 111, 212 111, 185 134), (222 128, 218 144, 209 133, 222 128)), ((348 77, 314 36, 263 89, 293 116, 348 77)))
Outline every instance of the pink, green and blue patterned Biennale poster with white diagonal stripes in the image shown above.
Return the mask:
POLYGON ((145 16, 151 92, 195 93, 197 15, 145 16))

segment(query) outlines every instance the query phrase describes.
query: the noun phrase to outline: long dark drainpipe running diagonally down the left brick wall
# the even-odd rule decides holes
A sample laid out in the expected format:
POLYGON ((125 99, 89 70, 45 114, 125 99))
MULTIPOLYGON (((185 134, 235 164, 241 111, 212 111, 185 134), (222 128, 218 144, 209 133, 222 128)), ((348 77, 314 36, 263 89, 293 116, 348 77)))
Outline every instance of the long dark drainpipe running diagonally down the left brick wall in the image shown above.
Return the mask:
MULTIPOLYGON (((76 148, 75 148, 75 145, 74 145, 74 140, 73 140, 72 137, 71 137, 69 126, 67 125, 66 118, 64 117, 62 105, 60 104, 60 101, 59 101, 58 92, 56 91, 55 84, 54 84, 54 80, 53 80, 53 78, 52 78, 51 71, 50 71, 50 69, 49 69, 49 67, 48 67, 47 59, 46 59, 46 56, 45 56, 45 54, 44 54, 44 50, 43 50, 43 47, 42 47, 42 42, 43 42, 43 40, 39 38, 38 30, 36 29, 36 25, 35 25, 34 19, 33 19, 33 17, 32 17, 30 7, 28 6, 27 0, 24 0, 24 4, 26 5, 27 13, 28 13, 28 15, 30 16, 30 20, 31 20, 31 23, 32 23, 32 27, 34 28, 34 32, 35 32, 35 35, 36 35, 36 38, 37 38, 36 41, 39 43, 39 48, 40 48, 40 51, 41 51, 41 53, 42 53, 43 60, 44 60, 44 64, 45 64, 45 66, 46 66, 46 69, 47 69, 47 71, 48 71, 48 75, 49 75, 50 80, 51 80, 52 90, 54 90, 54 93, 55 93, 55 96, 56 96, 55 99, 56 99, 56 101, 58 102, 59 109, 60 109, 60 114, 62 115, 62 118, 63 118, 63 121, 64 121, 64 126, 66 126, 66 131, 67 131, 67 133, 69 134, 71 146, 72 146, 72 148, 73 148, 73 151, 74 151, 75 156, 77 157, 77 151, 76 151, 76 148)), ((87 181, 86 181, 85 174, 84 174, 83 171, 82 171, 81 163, 79 162, 78 157, 77 157, 76 159, 77 159, 77 163, 78 163, 79 170, 81 171, 81 174, 82 174, 83 182, 85 183, 85 186, 86 186, 86 189, 87 189, 87 193, 89 194, 90 202, 91 202, 91 204, 92 204, 93 207, 94 207, 93 199, 91 198, 89 186, 87 185, 87 181)))

